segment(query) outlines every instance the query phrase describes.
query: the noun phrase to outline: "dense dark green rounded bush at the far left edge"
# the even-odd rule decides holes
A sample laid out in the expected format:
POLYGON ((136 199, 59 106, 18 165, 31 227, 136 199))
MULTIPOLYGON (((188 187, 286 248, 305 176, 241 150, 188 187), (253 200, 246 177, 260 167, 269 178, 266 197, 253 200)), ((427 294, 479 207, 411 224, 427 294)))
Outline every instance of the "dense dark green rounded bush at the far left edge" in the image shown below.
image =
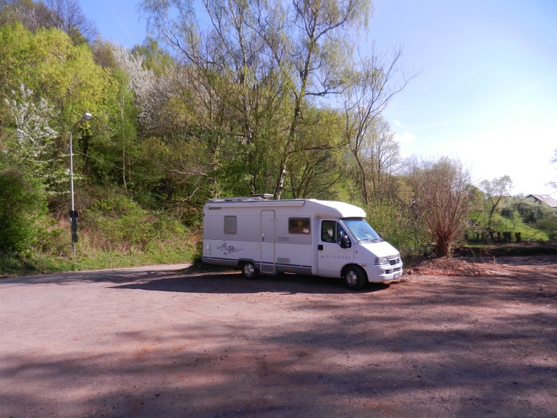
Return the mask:
POLYGON ((0 252, 22 251, 36 242, 38 218, 46 211, 45 196, 22 173, 0 173, 0 252))

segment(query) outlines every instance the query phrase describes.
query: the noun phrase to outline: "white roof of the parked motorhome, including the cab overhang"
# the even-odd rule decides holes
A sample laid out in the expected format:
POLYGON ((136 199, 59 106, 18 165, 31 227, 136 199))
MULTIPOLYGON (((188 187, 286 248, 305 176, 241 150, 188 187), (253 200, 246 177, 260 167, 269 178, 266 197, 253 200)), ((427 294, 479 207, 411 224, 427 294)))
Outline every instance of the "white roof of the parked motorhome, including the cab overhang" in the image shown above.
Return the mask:
POLYGON ((283 200, 264 200, 248 197, 230 197, 214 199, 206 203, 208 208, 212 206, 226 206, 230 208, 284 208, 288 206, 306 206, 311 208, 317 218, 334 217, 366 217, 366 211, 358 206, 350 205, 339 201, 322 201, 317 199, 283 199, 283 200))

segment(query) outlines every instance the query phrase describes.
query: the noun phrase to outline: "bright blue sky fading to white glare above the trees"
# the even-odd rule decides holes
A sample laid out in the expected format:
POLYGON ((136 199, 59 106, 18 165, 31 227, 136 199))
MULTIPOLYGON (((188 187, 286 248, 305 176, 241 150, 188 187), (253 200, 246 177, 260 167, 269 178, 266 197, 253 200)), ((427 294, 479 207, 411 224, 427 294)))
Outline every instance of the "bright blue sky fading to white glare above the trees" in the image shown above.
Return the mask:
MULTIPOLYGON (((79 0, 103 38, 143 42, 137 0, 79 0)), ((510 176, 512 194, 557 180, 557 1, 375 0, 361 51, 402 45, 416 75, 384 111, 403 157, 458 157, 476 183, 510 176)), ((553 196, 557 196, 554 193, 553 196)))

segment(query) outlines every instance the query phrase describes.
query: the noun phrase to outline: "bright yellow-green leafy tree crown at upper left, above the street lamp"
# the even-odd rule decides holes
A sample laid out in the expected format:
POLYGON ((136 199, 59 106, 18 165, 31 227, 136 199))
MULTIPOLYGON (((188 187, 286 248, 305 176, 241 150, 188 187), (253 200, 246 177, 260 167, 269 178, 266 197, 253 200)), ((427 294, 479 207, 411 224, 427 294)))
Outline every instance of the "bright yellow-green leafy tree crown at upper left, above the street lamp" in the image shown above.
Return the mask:
MULTIPOLYGON (((57 29, 31 33, 17 22, 0 28, 0 78, 0 98, 10 98, 11 91, 24 84, 37 101, 45 98, 54 107, 58 112, 54 127, 64 133, 58 148, 65 148, 65 132, 84 111, 102 119, 117 93, 116 83, 95 65, 87 45, 74 46, 57 29)), ((6 109, 1 113, 6 115, 6 109)))

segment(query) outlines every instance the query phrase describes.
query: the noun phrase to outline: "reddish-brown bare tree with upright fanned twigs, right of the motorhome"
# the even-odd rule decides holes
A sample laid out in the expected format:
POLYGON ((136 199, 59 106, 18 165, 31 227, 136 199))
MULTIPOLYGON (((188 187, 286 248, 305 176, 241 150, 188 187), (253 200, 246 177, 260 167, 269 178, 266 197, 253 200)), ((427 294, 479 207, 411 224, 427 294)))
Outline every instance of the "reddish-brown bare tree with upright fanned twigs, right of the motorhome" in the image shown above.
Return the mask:
POLYGON ((466 229, 471 201, 471 176, 460 160, 411 162, 410 180, 415 206, 436 241, 437 256, 449 256, 450 247, 466 229))

